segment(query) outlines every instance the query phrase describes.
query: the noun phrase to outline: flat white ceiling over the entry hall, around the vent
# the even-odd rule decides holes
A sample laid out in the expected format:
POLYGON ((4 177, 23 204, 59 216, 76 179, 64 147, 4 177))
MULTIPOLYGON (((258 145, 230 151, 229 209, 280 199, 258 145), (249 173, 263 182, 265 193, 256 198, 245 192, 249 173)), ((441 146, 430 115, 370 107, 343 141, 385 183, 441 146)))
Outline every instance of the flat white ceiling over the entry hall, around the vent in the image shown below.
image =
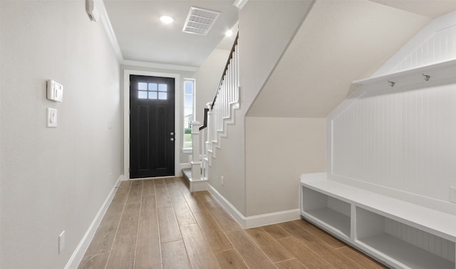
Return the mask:
POLYGON ((199 67, 237 22, 234 0, 104 0, 124 60, 199 67), (207 36, 182 32, 190 7, 221 12, 207 36), (160 16, 172 16, 170 25, 160 16))

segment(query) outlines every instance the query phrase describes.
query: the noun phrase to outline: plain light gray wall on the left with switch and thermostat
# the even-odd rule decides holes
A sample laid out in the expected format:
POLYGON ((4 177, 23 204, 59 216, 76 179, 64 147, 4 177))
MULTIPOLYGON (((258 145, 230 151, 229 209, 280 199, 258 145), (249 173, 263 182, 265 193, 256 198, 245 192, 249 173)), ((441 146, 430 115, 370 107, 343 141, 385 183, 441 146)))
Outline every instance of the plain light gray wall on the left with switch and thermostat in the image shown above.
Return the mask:
POLYGON ((84 1, 0 5, 0 268, 63 268, 122 174, 119 64, 84 1))

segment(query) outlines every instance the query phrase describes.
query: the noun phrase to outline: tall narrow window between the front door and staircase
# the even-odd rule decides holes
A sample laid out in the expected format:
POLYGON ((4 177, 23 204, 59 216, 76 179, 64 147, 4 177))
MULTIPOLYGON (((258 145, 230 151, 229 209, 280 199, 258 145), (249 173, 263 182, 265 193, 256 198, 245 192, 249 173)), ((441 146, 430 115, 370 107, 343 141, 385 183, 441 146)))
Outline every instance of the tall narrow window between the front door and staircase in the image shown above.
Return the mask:
POLYGON ((184 139, 182 149, 192 149, 192 121, 195 107, 195 79, 184 79, 184 139))

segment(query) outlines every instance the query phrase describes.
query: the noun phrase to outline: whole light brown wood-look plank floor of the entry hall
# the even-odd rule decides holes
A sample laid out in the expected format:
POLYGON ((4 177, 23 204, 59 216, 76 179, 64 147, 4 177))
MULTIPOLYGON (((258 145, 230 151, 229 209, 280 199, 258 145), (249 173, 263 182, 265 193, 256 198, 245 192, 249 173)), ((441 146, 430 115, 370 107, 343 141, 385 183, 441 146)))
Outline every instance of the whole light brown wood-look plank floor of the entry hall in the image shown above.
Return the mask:
POLYGON ((303 220, 242 229, 182 178, 123 181, 78 268, 383 268, 303 220))

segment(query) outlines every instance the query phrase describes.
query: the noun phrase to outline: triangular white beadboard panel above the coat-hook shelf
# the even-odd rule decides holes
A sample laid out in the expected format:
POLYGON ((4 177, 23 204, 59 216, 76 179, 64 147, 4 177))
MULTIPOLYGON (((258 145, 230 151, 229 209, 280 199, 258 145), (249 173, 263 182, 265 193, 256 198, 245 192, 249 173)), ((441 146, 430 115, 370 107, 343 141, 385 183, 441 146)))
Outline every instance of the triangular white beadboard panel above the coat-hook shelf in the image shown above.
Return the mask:
POLYGON ((456 59, 456 25, 436 31, 390 71, 396 73, 423 65, 456 59))

